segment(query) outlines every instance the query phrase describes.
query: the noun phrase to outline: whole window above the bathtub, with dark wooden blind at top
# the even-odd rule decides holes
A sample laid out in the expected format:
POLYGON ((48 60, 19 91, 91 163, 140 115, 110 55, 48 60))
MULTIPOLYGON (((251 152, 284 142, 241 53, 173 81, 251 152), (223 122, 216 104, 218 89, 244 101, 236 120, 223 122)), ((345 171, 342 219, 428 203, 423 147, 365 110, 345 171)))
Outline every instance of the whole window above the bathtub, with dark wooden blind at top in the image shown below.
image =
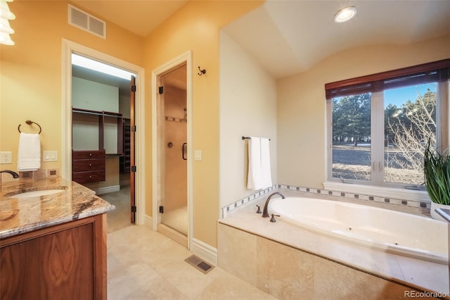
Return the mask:
POLYGON ((448 146, 450 59, 327 84, 328 180, 420 188, 428 139, 448 146))

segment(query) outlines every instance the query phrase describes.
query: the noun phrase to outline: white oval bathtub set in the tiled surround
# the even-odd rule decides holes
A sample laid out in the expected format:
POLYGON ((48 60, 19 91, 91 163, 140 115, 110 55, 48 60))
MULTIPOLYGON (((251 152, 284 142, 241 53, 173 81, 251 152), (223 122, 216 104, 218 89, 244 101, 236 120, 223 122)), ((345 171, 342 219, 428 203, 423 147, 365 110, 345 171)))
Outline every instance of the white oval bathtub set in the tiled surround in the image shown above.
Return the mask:
POLYGON ((447 264, 447 223, 383 208, 304 197, 274 198, 269 212, 282 220, 391 254, 447 264))

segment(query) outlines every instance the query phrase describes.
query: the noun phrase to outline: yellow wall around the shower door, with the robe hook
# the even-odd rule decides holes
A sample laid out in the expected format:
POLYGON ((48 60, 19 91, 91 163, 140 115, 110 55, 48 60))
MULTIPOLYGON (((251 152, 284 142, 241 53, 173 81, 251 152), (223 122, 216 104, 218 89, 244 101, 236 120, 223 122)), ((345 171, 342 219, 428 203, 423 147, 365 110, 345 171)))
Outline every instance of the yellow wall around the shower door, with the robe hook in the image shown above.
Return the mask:
MULTIPOLYGON (((193 53, 193 149, 203 151, 203 161, 193 162, 193 238, 214 247, 219 218, 219 29, 262 3, 188 1, 146 38, 147 78, 176 56, 193 53), (198 76, 197 66, 206 74, 198 76)), ((147 85, 146 103, 151 102, 150 89, 147 85)), ((150 106, 146 115, 151 115, 150 106)), ((150 118, 146 132, 151 132, 150 118)), ((146 139, 146 149, 152 149, 151 139, 146 139)), ((147 159, 146 169, 151 168, 147 159)), ((146 215, 152 215, 151 183, 151 176, 146 176, 146 215)))

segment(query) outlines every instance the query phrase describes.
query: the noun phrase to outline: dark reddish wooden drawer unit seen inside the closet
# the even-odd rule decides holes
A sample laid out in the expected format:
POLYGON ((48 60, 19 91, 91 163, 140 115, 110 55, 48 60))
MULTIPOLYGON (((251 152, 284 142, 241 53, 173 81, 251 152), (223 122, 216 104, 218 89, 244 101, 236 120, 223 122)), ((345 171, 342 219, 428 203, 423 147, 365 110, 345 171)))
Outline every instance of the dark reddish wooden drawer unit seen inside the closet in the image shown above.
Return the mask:
POLYGON ((105 181, 105 149, 72 151, 72 180, 79 184, 105 181))

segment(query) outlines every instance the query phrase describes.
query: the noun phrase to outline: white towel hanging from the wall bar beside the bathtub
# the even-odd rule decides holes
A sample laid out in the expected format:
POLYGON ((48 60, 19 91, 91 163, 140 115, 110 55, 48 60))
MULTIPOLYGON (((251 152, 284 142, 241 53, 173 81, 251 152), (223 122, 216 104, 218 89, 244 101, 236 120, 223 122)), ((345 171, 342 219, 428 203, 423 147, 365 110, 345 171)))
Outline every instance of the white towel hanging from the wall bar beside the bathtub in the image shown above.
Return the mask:
POLYGON ((271 187, 269 139, 250 137, 248 141, 248 189, 271 187))

